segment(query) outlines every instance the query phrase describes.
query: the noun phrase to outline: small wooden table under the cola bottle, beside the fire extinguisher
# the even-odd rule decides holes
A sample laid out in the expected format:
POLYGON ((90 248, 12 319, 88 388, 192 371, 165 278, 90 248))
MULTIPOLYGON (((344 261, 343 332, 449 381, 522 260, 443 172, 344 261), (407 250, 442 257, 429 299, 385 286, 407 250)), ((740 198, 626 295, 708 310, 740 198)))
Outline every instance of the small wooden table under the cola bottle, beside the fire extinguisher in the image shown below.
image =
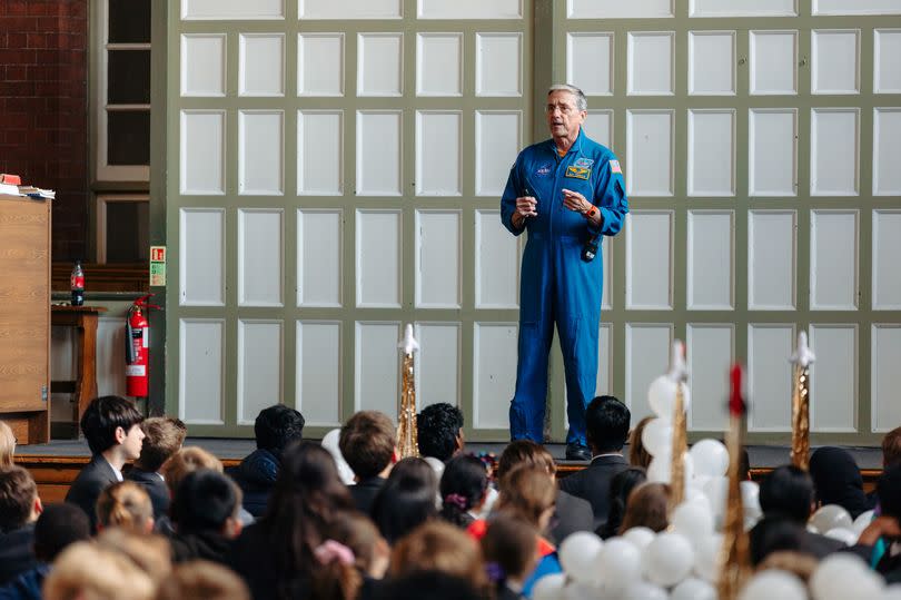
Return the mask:
POLYGON ((97 397, 97 317, 106 312, 106 306, 55 304, 50 307, 50 325, 75 327, 78 332, 76 381, 50 382, 50 392, 75 396, 72 417, 76 431, 88 403, 97 397))

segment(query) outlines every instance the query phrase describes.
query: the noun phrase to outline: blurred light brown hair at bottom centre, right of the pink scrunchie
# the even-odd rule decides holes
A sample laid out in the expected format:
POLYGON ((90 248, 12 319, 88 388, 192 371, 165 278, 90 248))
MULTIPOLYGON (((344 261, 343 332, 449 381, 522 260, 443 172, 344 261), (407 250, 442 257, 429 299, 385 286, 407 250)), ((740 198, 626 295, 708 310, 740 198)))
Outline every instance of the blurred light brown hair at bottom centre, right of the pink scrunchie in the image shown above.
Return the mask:
MULTIPOLYGON (((547 475, 544 476, 545 484, 547 475)), ((443 521, 427 521, 400 538, 392 552, 392 578, 419 571, 438 571, 486 590, 488 579, 478 543, 462 529, 443 521)))

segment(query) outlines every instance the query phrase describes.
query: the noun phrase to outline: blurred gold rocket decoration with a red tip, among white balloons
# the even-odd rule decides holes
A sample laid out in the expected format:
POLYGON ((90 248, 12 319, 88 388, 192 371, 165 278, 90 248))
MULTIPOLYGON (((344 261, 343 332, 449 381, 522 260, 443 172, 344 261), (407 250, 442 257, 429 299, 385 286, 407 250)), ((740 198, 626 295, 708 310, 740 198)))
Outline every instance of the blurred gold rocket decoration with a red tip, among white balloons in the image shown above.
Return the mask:
POLYGON ((744 473, 740 472, 745 415, 741 365, 732 366, 730 384, 730 427, 726 435, 729 491, 723 518, 723 545, 720 550, 720 580, 717 581, 720 600, 735 600, 751 573, 750 547, 747 533, 744 531, 744 503, 741 489, 744 473))

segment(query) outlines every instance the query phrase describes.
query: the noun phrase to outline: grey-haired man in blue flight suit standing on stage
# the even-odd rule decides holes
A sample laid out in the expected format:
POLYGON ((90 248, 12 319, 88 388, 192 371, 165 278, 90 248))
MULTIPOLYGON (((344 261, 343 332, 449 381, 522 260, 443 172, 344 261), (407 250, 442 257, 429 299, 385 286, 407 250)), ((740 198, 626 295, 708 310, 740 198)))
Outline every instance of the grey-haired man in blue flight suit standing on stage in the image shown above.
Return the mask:
POLYGON ((501 198, 513 235, 528 230, 519 293, 519 360, 509 407, 513 440, 544 441, 547 355, 557 325, 566 372, 567 460, 591 460, 585 409, 597 380, 597 329, 604 282, 602 236, 628 213, 620 163, 582 130, 587 100, 574 86, 547 92, 551 137, 516 158, 501 198))

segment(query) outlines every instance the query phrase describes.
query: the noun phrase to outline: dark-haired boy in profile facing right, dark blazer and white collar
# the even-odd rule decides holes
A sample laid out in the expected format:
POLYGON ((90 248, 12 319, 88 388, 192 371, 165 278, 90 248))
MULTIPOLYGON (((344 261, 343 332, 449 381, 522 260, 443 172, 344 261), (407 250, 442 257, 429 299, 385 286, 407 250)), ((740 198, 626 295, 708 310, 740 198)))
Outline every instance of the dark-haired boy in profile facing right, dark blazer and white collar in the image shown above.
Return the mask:
POLYGON ((109 484, 123 481, 122 468, 141 454, 143 415, 135 403, 119 396, 101 396, 91 401, 81 416, 81 432, 91 451, 91 462, 78 474, 66 502, 81 508, 97 530, 95 505, 100 492, 109 484))

